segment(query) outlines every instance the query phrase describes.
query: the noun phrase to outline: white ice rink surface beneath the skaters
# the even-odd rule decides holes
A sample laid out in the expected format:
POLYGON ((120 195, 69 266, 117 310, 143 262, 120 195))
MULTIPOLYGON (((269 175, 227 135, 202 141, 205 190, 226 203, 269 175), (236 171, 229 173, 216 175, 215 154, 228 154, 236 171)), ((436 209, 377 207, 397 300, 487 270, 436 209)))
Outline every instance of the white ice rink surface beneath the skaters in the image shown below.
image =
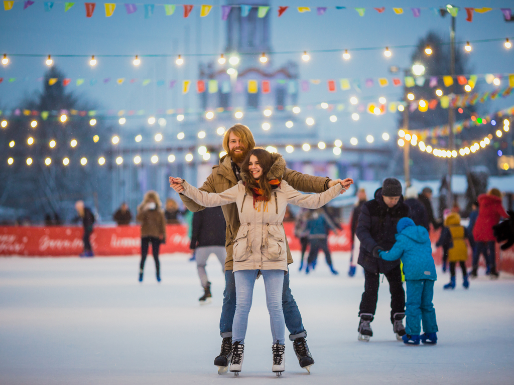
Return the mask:
MULTIPOLYGON (((298 253, 293 252, 298 260, 298 253)), ((243 372, 218 375, 219 315, 224 275, 211 256, 213 301, 203 294, 196 264, 185 254, 161 257, 162 282, 151 257, 143 283, 138 257, 0 258, 0 384, 207 384, 270 381, 294 384, 512 384, 514 278, 483 275, 443 291, 435 284, 439 326, 435 346, 396 341, 387 280, 380 286, 371 341, 357 340, 364 278, 346 275, 348 253, 335 253, 340 275, 320 255, 306 276, 290 265, 291 289, 316 363, 301 369, 286 341, 286 371, 271 373, 271 332, 264 284, 256 282, 243 372)), ((287 332, 287 330, 286 330, 287 332)), ((287 340, 287 337, 286 337, 287 340)))

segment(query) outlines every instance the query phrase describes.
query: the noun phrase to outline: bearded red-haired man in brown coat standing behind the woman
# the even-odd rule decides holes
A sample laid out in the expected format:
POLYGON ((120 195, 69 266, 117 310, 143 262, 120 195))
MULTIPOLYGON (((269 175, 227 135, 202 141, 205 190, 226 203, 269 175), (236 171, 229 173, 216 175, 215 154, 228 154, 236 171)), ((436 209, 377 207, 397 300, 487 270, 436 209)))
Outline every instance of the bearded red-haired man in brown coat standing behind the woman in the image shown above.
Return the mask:
MULTIPOLYGON (((241 180, 241 166, 250 150, 255 147, 255 140, 250 129, 242 124, 230 127, 223 137, 223 148, 227 155, 219 160, 219 164, 213 167, 212 174, 207 178, 200 190, 207 192, 223 192, 237 184, 241 180)), ((323 192, 328 188, 340 183, 340 180, 313 177, 301 174, 298 171, 286 169, 282 176, 283 180, 290 184, 292 188, 305 192, 323 192)), ((205 207, 180 194, 180 199, 191 211, 203 210, 205 207)), ((233 274, 232 251, 235 243, 235 235, 240 228, 237 205, 235 203, 222 206, 223 215, 227 222, 226 249, 227 258, 225 260, 225 291, 223 293, 222 314, 219 320, 219 332, 223 338, 221 352, 214 359, 214 365, 219 369, 219 373, 228 370, 228 363, 232 354, 232 321, 235 312, 235 281, 233 274)), ((286 241, 287 258, 292 262, 291 252, 286 241)), ((289 274, 284 277, 284 287, 282 292, 282 302, 284 318, 289 339, 293 341, 293 348, 298 358, 300 367, 307 368, 314 364, 311 356, 306 336, 307 332, 302 323, 302 316, 295 298, 289 288, 289 274)))

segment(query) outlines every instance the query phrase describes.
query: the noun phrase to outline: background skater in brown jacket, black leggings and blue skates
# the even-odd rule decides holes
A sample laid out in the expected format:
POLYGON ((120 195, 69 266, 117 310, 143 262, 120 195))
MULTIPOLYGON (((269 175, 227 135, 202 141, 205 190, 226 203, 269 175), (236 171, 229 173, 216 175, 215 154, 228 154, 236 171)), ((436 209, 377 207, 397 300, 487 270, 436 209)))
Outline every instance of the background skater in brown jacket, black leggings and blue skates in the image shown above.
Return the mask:
POLYGON ((141 263, 139 264, 139 282, 143 281, 143 269, 148 246, 152 243, 155 261, 155 274, 160 282, 159 248, 166 242, 166 221, 162 213, 162 203, 156 191, 146 191, 143 201, 137 206, 136 220, 141 223, 141 263))

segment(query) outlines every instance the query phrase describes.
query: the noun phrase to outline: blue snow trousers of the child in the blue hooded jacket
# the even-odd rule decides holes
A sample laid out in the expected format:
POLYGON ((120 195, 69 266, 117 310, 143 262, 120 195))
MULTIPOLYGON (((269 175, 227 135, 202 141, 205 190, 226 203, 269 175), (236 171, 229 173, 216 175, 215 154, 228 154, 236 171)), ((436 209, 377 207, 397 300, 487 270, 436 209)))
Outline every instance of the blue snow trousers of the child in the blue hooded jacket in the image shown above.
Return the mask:
POLYGON ((437 321, 432 303, 434 281, 430 279, 406 280, 407 302, 405 306, 405 332, 410 335, 421 334, 421 322, 425 333, 435 333, 437 321))

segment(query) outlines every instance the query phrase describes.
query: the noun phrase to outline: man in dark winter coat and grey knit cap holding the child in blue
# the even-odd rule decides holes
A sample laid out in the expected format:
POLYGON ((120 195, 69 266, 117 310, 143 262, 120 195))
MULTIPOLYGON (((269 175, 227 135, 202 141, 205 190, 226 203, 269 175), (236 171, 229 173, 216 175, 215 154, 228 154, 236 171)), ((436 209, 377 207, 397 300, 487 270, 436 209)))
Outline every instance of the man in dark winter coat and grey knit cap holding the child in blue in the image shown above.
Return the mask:
POLYGON ((357 263, 364 267, 364 293, 360 302, 359 340, 368 341, 373 332, 373 321, 378 300, 380 273, 389 281, 391 292, 391 323, 393 331, 401 340, 405 335, 402 319, 405 317, 405 291, 401 284, 400 261, 386 261, 379 258, 380 250, 389 251, 396 239, 396 224, 409 216, 409 207, 403 203, 401 184, 395 178, 387 178, 382 187, 375 191, 375 199, 364 203, 357 225, 360 240, 357 263))

